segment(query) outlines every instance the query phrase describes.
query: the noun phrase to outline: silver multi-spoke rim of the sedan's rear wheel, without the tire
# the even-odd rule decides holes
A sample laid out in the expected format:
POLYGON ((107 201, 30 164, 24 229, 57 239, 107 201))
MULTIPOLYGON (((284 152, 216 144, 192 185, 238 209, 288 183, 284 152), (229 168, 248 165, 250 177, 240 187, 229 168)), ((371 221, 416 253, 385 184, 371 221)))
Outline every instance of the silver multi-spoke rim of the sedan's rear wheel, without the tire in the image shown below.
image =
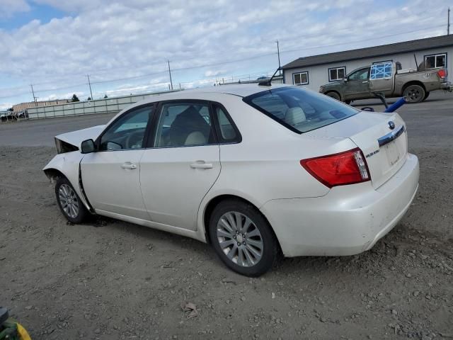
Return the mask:
POLYGON ((241 212, 224 213, 217 222, 217 241, 226 257, 239 266, 255 266, 263 256, 263 237, 241 212))

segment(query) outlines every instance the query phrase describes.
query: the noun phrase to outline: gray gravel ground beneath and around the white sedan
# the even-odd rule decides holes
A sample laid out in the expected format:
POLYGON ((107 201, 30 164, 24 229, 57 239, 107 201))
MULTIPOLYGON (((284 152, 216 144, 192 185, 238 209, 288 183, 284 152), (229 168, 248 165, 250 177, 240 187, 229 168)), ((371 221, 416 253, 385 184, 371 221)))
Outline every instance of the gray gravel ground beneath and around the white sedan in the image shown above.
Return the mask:
POLYGON ((453 339, 453 137, 403 118, 420 189, 395 229, 363 254, 282 259, 253 279, 193 239, 68 225, 40 170, 55 149, 2 147, 0 305, 33 340, 453 339))

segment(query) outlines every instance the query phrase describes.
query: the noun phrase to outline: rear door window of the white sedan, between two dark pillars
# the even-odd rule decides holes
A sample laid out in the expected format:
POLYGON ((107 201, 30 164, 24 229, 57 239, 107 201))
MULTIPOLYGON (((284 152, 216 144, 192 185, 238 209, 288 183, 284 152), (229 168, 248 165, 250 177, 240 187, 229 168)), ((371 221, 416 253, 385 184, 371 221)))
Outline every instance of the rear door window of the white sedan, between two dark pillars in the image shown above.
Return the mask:
POLYGON ((167 103, 161 108, 155 147, 217 144, 207 103, 167 103))

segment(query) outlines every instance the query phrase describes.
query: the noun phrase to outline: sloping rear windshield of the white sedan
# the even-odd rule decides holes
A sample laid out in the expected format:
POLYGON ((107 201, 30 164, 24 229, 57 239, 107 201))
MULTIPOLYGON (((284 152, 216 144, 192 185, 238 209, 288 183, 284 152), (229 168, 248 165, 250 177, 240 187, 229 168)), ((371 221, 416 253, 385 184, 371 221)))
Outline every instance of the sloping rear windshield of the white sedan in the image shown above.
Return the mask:
POLYGON ((295 86, 263 91, 243 101, 297 133, 322 128, 359 112, 326 95, 295 86))

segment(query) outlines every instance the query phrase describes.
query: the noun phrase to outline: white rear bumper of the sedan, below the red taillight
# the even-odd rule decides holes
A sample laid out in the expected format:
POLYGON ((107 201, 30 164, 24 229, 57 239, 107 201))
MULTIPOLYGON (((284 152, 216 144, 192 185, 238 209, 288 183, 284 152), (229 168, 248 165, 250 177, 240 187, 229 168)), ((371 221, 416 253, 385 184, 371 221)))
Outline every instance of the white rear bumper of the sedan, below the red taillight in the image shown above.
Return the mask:
POLYGON ((337 186, 326 196, 270 200, 261 208, 285 256, 341 256, 366 251, 406 213, 418 189, 418 159, 378 189, 337 186))

